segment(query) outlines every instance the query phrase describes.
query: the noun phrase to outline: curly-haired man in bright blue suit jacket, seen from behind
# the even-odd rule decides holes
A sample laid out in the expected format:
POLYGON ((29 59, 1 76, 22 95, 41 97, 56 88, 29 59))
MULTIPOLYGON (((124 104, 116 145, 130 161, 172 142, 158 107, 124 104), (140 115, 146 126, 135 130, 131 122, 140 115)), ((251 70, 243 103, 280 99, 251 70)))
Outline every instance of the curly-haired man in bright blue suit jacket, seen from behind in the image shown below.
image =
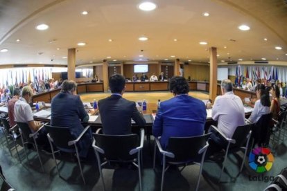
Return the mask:
POLYGON ((189 96, 189 84, 185 78, 171 78, 169 89, 174 98, 160 103, 153 122, 153 136, 161 136, 159 142, 163 148, 171 136, 202 135, 207 119, 204 102, 189 96))

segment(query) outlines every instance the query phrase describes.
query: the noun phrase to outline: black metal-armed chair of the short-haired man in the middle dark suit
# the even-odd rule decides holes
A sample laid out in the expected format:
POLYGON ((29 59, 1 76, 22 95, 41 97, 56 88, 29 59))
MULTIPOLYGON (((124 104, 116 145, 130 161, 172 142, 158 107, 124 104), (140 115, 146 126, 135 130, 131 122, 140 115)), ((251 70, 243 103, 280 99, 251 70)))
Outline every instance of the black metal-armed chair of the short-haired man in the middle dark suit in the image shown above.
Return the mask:
POLYGON ((108 162, 132 163, 139 170, 139 190, 141 190, 141 149, 143 149, 144 130, 141 129, 140 140, 137 134, 129 135, 105 135, 100 134, 101 129, 96 131, 93 147, 98 161, 98 170, 103 181, 103 165, 108 162), (104 162, 101 163, 100 154, 103 154, 104 162))

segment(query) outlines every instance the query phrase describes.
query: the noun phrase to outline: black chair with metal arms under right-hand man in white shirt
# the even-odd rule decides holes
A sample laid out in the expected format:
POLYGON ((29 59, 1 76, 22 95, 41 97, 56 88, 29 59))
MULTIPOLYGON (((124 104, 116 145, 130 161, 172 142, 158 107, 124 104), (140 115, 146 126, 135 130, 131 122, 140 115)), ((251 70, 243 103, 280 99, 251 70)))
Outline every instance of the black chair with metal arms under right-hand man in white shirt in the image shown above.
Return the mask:
POLYGON ((233 152, 237 152, 239 149, 245 150, 243 160, 241 163, 241 168, 240 168, 240 172, 242 171, 243 165, 245 162, 245 158, 246 158, 246 154, 247 154, 248 145, 250 142, 250 137, 252 134, 253 125, 254 125, 253 123, 248 123, 247 125, 238 126, 236 128, 236 130, 234 131, 232 138, 227 138, 227 136, 225 136, 225 134, 223 134, 214 125, 210 126, 211 131, 215 131, 216 133, 218 133, 219 136, 221 136, 221 138, 223 138, 223 140, 226 141, 225 157, 224 157, 223 167, 221 169, 218 181, 220 181, 221 175, 223 174, 223 170, 225 168, 225 162, 227 161, 228 154, 233 153, 233 152))

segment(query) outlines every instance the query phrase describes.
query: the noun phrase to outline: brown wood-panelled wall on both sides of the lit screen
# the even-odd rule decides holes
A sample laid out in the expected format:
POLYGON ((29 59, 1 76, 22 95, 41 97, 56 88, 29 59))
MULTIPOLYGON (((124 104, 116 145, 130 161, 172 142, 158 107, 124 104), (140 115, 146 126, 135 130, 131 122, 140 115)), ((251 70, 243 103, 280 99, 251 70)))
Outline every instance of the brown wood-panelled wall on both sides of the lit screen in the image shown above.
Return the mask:
MULTIPOLYGON (((134 75, 134 65, 135 64, 123 64, 123 75, 125 78, 130 78, 132 79, 132 76, 134 75)), ((148 64, 148 78, 150 78, 151 75, 159 75, 159 65, 158 64, 148 64)), ((141 73, 137 73, 137 76, 140 77, 141 73)))

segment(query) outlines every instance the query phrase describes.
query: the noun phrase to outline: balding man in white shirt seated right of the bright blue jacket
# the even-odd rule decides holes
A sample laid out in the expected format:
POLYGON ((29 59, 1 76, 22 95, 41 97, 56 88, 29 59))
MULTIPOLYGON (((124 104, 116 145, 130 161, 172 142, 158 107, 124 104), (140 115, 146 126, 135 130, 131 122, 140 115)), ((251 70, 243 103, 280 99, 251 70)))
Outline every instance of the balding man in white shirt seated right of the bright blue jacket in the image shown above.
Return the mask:
MULTIPOLYGON (((232 138, 234 131, 238 126, 245 125, 245 113, 241 98, 234 95, 232 82, 223 80, 221 82, 221 93, 223 96, 217 96, 212 108, 212 119, 218 121, 217 128, 227 136, 232 138)), ((211 147, 225 146, 225 141, 212 133, 209 143, 211 147)), ((214 148, 213 148, 214 149, 214 148)))

